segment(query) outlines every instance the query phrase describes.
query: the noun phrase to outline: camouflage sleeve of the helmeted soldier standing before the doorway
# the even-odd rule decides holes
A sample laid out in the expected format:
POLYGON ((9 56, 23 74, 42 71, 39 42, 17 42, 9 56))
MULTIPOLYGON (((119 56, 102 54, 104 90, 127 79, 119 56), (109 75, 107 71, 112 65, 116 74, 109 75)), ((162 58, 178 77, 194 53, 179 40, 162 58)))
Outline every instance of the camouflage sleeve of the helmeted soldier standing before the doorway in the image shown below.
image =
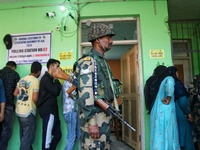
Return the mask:
POLYGON ((79 103, 90 125, 96 125, 93 80, 94 60, 91 57, 83 58, 78 63, 79 103))

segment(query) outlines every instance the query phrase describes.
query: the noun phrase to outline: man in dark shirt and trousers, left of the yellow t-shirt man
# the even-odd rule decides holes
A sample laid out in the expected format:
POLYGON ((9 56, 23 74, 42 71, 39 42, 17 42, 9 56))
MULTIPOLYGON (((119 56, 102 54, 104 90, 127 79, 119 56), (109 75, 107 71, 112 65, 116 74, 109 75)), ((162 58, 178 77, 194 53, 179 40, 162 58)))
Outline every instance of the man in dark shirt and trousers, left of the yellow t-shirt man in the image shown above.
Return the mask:
POLYGON ((13 92, 20 77, 15 72, 17 65, 14 61, 8 61, 6 67, 0 70, 0 78, 3 80, 6 95, 5 119, 2 122, 0 136, 0 149, 7 149, 8 141, 12 135, 14 123, 14 95, 13 92))

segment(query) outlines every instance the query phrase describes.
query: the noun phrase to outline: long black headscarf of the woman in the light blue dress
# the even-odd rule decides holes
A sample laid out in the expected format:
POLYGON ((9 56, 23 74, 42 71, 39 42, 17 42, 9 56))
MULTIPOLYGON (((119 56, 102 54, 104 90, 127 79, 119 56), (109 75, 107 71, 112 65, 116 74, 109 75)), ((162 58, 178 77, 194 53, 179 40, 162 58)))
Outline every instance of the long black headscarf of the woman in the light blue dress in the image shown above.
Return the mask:
POLYGON ((144 95, 148 114, 151 112, 160 84, 167 76, 169 76, 167 67, 160 65, 154 69, 153 75, 146 81, 144 95))

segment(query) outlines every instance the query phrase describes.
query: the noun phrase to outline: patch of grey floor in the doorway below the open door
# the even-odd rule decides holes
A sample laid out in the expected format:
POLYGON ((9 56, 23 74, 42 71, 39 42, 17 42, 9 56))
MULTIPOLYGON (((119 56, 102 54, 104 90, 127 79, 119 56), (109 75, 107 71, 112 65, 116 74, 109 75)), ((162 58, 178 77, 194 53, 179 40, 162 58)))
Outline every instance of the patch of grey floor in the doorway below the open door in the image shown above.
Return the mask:
POLYGON ((121 140, 117 140, 114 133, 111 134, 111 150, 134 150, 121 140))

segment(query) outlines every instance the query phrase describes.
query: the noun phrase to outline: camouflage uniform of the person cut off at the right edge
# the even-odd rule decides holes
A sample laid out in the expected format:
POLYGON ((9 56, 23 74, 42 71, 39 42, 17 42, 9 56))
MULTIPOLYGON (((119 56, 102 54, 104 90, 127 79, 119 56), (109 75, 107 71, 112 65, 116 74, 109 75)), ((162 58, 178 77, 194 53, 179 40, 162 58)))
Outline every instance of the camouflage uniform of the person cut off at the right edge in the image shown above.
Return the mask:
POLYGON ((189 93, 191 96, 191 109, 194 118, 194 125, 197 140, 200 143, 200 75, 196 75, 189 85, 189 93))

